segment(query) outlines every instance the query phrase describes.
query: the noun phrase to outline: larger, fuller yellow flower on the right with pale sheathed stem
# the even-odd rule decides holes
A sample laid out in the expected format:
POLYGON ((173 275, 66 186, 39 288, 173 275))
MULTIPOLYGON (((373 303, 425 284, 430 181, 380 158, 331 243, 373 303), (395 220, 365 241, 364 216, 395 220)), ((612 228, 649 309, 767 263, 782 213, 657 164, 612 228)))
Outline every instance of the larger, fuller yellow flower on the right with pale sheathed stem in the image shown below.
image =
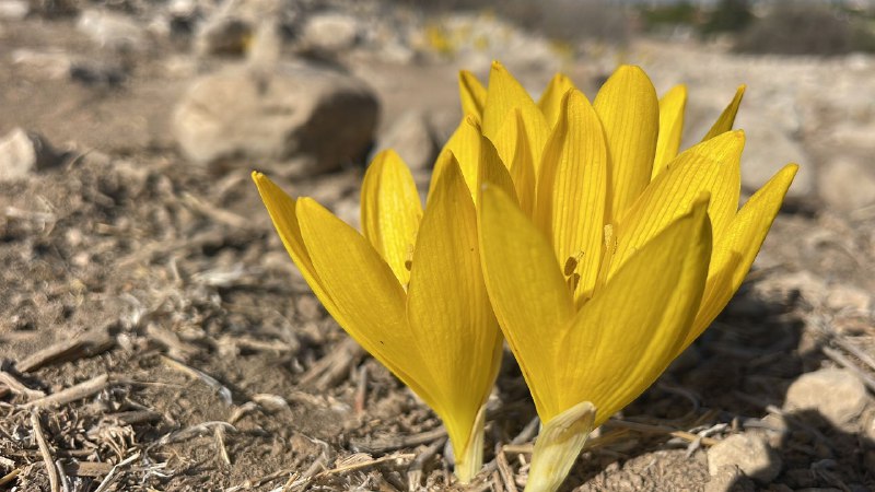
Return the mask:
POLYGON ((526 490, 552 491, 586 435, 726 305, 796 165, 737 210, 744 133, 731 129, 744 87, 678 155, 686 90, 658 101, 639 68, 618 69, 593 104, 561 75, 536 104, 498 63, 488 89, 460 80, 513 181, 482 191, 480 250, 545 425, 526 490))

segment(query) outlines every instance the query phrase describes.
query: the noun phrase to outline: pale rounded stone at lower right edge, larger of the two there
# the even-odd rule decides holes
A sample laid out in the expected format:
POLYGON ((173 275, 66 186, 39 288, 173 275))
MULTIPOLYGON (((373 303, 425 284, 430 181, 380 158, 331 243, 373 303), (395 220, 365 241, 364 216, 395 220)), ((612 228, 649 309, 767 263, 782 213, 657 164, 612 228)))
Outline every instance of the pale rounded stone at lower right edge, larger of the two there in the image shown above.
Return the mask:
POLYGON ((847 429, 865 409, 866 387, 847 370, 822 368, 800 376, 786 390, 784 410, 814 410, 839 429, 847 429))

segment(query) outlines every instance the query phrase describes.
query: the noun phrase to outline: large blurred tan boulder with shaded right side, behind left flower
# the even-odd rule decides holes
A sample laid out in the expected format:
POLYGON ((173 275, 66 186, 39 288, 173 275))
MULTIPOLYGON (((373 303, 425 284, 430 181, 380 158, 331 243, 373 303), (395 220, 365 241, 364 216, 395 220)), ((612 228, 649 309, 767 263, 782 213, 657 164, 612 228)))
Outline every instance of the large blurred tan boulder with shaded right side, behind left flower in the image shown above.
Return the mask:
POLYGON ((199 163, 301 159, 311 171, 359 161, 378 104, 360 80, 302 63, 229 69, 197 80, 173 115, 183 152, 199 163))

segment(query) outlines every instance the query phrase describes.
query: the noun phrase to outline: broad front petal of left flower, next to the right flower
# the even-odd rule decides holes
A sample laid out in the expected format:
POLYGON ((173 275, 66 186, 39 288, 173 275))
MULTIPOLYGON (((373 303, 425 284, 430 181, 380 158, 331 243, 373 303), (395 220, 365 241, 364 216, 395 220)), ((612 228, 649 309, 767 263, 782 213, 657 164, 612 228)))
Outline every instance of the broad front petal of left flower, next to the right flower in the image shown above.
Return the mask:
POLYGON ((456 456, 467 455, 466 444, 498 374, 502 350, 477 241, 470 192, 458 168, 447 167, 422 218, 407 316, 440 395, 434 410, 456 456))

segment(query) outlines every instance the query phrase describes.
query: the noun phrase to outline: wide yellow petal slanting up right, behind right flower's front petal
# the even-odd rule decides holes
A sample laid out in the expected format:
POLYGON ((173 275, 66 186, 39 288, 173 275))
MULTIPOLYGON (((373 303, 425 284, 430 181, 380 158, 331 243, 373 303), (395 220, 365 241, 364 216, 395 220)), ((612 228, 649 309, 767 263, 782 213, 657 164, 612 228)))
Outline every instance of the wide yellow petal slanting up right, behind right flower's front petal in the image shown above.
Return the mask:
POLYGON ((708 214, 714 237, 721 237, 738 208, 744 132, 732 131, 682 152, 648 187, 617 225, 617 269, 651 237, 689 210, 702 191, 712 199, 708 214))

